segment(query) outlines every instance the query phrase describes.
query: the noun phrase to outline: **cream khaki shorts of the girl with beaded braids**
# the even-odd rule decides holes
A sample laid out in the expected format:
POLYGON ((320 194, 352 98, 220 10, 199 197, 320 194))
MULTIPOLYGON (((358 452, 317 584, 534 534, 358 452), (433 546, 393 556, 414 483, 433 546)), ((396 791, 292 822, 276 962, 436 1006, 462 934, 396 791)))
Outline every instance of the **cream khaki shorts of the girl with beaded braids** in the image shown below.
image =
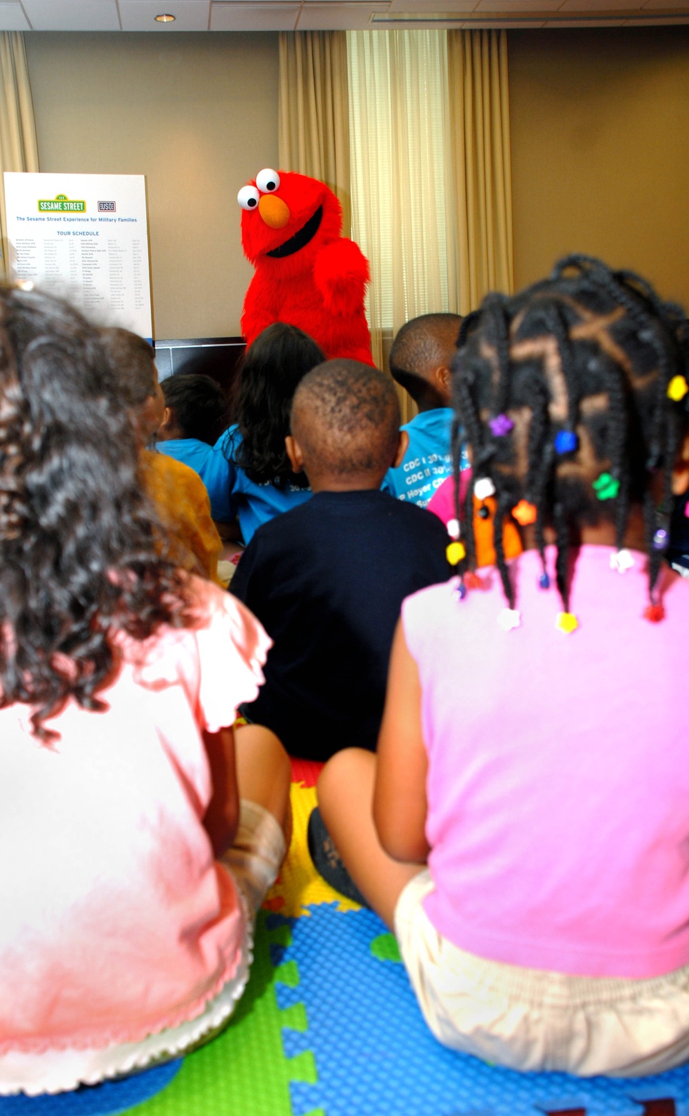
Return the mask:
POLYGON ((520 1070, 659 1074, 689 1059, 689 966, 649 980, 569 977, 465 953, 431 925, 425 869, 395 932, 430 1030, 445 1046, 520 1070))

